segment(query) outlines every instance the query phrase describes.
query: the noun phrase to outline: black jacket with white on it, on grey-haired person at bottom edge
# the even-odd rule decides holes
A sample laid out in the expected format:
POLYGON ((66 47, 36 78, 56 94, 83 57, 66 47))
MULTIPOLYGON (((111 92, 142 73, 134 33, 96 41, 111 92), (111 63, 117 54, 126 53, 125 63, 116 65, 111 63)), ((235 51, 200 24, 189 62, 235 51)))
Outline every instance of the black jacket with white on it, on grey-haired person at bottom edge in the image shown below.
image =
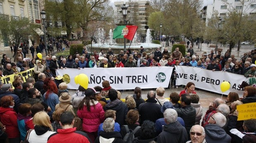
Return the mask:
POLYGON ((101 131, 100 136, 95 139, 95 143, 123 143, 122 136, 119 132, 101 131))

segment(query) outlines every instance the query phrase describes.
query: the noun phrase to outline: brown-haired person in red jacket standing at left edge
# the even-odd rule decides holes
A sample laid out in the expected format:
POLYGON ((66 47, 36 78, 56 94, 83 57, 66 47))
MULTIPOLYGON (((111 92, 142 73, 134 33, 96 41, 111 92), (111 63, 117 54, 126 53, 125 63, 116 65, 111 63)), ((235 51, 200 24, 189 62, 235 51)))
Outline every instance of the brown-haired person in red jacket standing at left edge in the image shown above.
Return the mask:
POLYGON ((19 143, 19 128, 17 122, 17 113, 14 111, 14 100, 12 96, 3 96, 1 98, 0 119, 6 127, 10 143, 19 143))

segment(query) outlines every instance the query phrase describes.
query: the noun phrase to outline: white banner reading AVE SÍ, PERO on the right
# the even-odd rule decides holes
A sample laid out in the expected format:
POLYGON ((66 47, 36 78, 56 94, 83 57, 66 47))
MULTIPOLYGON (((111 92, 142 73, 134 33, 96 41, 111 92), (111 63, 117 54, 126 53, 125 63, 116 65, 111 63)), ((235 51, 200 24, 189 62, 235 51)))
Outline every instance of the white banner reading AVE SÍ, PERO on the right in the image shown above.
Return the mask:
POLYGON ((236 92, 242 97, 243 91, 240 88, 242 81, 248 80, 244 75, 234 73, 212 71, 196 67, 175 66, 177 73, 176 85, 186 85, 187 82, 193 82, 196 88, 213 91, 219 94, 228 95, 229 92, 236 92), (223 81, 230 83, 230 89, 222 92, 220 84, 223 81))

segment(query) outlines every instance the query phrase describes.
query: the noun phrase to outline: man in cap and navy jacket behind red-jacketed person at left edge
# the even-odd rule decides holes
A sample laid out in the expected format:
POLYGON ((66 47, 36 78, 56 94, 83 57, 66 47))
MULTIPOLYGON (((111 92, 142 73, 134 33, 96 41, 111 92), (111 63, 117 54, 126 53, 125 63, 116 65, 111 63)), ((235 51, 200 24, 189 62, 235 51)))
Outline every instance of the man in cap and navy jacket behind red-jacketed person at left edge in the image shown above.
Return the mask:
MULTIPOLYGON (((0 84, 2 84, 2 82, 0 82, 0 84)), ((13 89, 12 89, 12 84, 8 83, 8 84, 3 84, 1 89, 0 89, 0 99, 3 96, 12 96, 14 99, 14 110, 16 112, 18 112, 18 106, 20 103, 19 100, 19 96, 17 96, 16 94, 13 93, 13 89)))

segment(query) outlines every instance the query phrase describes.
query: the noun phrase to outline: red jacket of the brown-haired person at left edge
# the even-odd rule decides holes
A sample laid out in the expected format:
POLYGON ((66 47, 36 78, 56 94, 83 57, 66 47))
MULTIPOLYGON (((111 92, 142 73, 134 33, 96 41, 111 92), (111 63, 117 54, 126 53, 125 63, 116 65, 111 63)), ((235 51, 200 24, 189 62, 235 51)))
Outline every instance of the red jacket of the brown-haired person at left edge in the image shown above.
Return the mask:
POLYGON ((19 138, 19 129, 17 122, 17 113, 13 108, 0 107, 0 119, 5 125, 8 138, 19 138))

